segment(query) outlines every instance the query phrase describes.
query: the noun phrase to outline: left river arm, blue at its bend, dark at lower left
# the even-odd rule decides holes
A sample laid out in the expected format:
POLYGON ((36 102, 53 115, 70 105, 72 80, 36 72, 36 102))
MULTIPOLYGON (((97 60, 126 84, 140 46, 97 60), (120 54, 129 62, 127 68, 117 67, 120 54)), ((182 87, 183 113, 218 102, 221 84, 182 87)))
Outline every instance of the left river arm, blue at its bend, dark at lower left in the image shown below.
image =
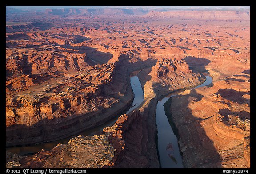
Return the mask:
MULTIPOLYGON (((131 77, 130 81, 131 81, 131 86, 132 86, 132 90, 134 93, 134 99, 132 101, 131 107, 128 109, 126 114, 131 112, 133 109, 137 108, 144 100, 144 94, 143 94, 143 90, 141 87, 141 83, 139 81, 139 78, 137 77, 137 74, 139 72, 140 71, 134 71, 130 74, 130 77, 131 77)), ((84 136, 96 135, 98 132, 103 131, 103 129, 105 127, 112 126, 113 124, 115 124, 117 119, 118 119, 118 117, 115 117, 98 127, 92 128, 88 131, 81 132, 78 135, 84 135, 84 136)), ((66 143, 68 143, 68 141, 70 139, 72 139, 72 137, 75 137, 75 136, 77 136, 77 135, 70 136, 65 139, 52 141, 52 142, 40 143, 40 144, 29 145, 29 146, 8 147, 8 148, 6 148, 6 151, 16 153, 19 155, 24 155, 24 156, 32 155, 32 154, 35 154, 35 153, 41 151, 42 149, 51 150, 52 148, 56 147, 58 143, 66 144, 66 143)))

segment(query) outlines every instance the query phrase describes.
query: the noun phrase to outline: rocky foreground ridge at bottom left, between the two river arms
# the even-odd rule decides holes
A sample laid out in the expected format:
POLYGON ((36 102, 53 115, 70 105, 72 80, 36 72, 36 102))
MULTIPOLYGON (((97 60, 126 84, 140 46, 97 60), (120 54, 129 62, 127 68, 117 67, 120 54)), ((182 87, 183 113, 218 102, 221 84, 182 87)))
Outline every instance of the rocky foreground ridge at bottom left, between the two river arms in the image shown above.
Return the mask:
MULTIPOLYGON (((122 115, 113 126, 104 128, 101 135, 88 137, 80 135, 71 139, 68 144, 58 144, 50 151, 43 149, 32 156, 23 157, 7 152, 6 166, 8 168, 159 167, 156 154, 143 153, 147 150, 142 149, 146 144, 141 142, 144 141, 141 136, 144 128, 138 131, 136 126, 134 129, 140 117, 143 116, 138 110, 129 115, 122 115), (132 142, 136 143, 136 146, 132 142), (129 153, 132 153, 132 156, 129 153), (136 159, 133 155, 140 155, 140 158, 136 159), (155 159, 148 161, 148 155, 154 155, 155 159)), ((141 122, 139 125, 141 126, 141 122)), ((154 151, 156 152, 156 149, 154 151)))

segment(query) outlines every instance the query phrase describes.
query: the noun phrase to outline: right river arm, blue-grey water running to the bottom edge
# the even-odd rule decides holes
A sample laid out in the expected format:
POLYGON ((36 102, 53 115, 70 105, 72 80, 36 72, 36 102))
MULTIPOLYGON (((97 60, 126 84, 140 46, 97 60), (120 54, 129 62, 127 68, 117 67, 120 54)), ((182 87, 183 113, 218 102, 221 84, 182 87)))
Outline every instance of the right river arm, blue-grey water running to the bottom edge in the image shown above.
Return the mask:
MULTIPOLYGON (((192 89, 196 89, 202 86, 206 86, 212 83, 212 77, 206 76, 206 81, 203 84, 198 85, 192 89)), ((164 103, 169 98, 176 96, 180 91, 171 93, 167 97, 159 100, 156 106, 156 124, 157 124, 157 136, 158 136, 158 152, 160 158, 160 164, 162 168, 183 168, 182 157, 180 155, 180 149, 178 146, 178 140, 174 134, 171 125, 165 115, 164 103)))

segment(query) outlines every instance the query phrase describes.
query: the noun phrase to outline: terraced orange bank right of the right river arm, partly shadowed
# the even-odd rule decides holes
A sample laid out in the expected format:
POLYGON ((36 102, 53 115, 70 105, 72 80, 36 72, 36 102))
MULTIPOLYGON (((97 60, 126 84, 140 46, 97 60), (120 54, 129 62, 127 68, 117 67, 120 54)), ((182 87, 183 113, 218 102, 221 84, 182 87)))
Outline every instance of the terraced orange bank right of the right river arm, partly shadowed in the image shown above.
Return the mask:
POLYGON ((250 75, 239 73, 172 97, 166 109, 178 130, 184 167, 250 167, 249 81, 250 75))

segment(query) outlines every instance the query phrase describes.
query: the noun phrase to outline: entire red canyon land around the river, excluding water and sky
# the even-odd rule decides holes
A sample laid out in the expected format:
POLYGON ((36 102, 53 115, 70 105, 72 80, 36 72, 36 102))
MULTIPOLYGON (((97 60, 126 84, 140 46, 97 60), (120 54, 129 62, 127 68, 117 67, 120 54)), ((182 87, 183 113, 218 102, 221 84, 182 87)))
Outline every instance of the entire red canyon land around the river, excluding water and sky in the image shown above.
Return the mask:
POLYGON ((113 126, 34 155, 6 151, 6 167, 159 168, 157 101, 207 74, 211 85, 165 104, 184 167, 250 167, 250 11, 6 12, 7 147, 78 135, 120 115, 133 100, 132 71, 144 91, 113 126))

